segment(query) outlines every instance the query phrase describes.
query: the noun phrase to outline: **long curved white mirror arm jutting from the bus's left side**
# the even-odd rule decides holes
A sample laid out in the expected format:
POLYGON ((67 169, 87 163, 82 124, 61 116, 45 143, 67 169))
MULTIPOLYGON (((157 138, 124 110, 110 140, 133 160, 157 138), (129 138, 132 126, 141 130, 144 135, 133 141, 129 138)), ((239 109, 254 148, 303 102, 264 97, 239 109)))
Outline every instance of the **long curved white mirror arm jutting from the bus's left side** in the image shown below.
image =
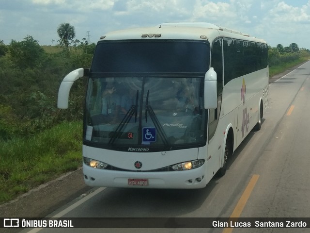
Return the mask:
POLYGON ((61 109, 68 108, 69 102, 69 93, 72 84, 77 81, 80 77, 83 77, 84 74, 88 73, 88 69, 79 68, 76 70, 71 71, 67 74, 60 84, 59 91, 58 91, 58 100, 57 100, 57 107, 61 109))

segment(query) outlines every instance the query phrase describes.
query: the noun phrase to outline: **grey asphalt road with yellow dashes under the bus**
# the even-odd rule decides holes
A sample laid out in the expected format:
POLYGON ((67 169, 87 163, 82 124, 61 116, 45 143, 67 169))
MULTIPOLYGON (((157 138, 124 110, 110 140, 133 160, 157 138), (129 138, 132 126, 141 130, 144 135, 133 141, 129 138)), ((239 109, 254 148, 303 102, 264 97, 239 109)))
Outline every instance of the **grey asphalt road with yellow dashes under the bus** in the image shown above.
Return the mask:
MULTIPOLYGON (((262 129, 251 132, 229 161, 226 175, 199 190, 99 188, 60 198, 37 216, 47 217, 310 217, 310 62, 269 86, 262 129), (79 196, 76 199, 74 197, 79 196), (66 202, 65 204, 63 202, 66 202), (54 211, 53 211, 54 210, 54 211), (43 215, 44 214, 44 215, 43 215)), ((70 176, 59 183, 68 183, 70 176)), ((76 177, 76 178, 77 178, 76 177)), ((52 183, 51 185, 55 185, 52 183)), ((63 186, 62 186, 63 187, 63 186)), ((47 187, 44 187, 47 188, 47 187)), ((43 188, 43 189, 44 189, 43 188)), ((53 188, 51 189, 53 190, 53 188)), ((68 192, 69 193, 69 192, 68 192)), ((63 194, 63 192, 62 192, 63 194)), ((48 196, 48 195, 47 195, 48 196)), ((61 196, 62 197, 62 196, 61 196)), ((27 197, 25 197, 27 198, 27 197)), ((49 200, 52 202, 51 200, 49 200)), ((18 205, 18 201, 10 204, 18 205)), ((10 204, 5 206, 10 214, 10 204)), ((49 206, 48 204, 46 206, 49 206)), ((13 207, 12 207, 13 208, 13 207)), ((27 211, 27 209, 26 209, 27 211)), ((33 210, 36 211, 36 210, 33 210)), ((0 216, 3 216, 1 213, 0 216)), ((33 212, 16 216, 26 217, 33 212)), ((27 213, 27 212, 25 212, 27 213)), ((14 214, 14 212, 13 212, 14 214)), ((12 216, 12 213, 11 213, 12 216)), ((35 215, 31 215, 35 216, 35 215)), ((14 217, 14 216, 12 216, 14 217)), ((27 229, 23 232, 85 232, 86 229, 27 229)), ((294 232, 309 232, 294 229, 294 232)), ((293 232, 292 229, 87 229, 93 232, 293 232)))

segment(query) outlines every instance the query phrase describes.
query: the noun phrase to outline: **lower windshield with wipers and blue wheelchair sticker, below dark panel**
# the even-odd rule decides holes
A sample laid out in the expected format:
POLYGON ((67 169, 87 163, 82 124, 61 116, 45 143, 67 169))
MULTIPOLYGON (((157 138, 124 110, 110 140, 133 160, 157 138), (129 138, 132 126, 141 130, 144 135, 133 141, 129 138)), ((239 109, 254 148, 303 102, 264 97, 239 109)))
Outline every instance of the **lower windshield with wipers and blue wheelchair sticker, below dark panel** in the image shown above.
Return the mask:
POLYGON ((173 150, 205 143, 202 78, 92 78, 85 142, 173 150), (165 148, 165 149, 164 149, 165 148))

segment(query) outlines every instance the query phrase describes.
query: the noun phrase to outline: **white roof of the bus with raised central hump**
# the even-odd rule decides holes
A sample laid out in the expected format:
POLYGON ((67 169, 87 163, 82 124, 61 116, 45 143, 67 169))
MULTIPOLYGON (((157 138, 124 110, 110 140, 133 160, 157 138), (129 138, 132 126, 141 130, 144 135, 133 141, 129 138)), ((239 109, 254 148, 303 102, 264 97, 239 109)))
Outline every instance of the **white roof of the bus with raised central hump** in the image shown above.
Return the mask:
POLYGON ((125 29, 107 33, 101 36, 100 40, 188 39, 213 41, 217 37, 229 37, 266 44, 263 39, 205 22, 162 23, 155 27, 125 29))

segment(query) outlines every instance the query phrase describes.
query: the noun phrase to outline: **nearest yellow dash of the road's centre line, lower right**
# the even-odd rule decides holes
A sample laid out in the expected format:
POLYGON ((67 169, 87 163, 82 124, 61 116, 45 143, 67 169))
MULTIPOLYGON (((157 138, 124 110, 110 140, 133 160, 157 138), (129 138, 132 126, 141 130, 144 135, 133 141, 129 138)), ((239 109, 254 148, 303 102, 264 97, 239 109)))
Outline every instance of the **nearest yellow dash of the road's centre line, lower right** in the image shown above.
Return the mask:
MULTIPOLYGON (((236 218, 240 217, 241 212, 243 210, 243 208, 246 206, 248 198, 250 197, 253 188, 256 184, 256 182, 258 181, 258 178, 260 177, 260 175, 253 175, 250 182, 248 183, 248 186, 246 187, 246 189, 244 190, 241 198, 239 199, 236 207, 233 210, 232 215, 230 216, 230 218, 235 218, 234 220, 236 220, 236 218)), ((223 230, 223 233, 231 233, 233 231, 233 228, 225 228, 223 230)))

